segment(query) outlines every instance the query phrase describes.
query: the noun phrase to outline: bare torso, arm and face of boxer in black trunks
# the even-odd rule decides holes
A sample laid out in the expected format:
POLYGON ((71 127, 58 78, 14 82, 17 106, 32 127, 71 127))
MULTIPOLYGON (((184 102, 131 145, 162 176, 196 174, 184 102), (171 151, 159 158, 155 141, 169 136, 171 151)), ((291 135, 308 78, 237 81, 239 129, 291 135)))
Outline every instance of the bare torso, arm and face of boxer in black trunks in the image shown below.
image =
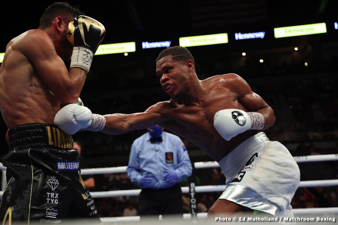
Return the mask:
POLYGON ((62 58, 70 58, 73 46, 64 39, 54 46, 53 33, 33 29, 8 43, 0 67, 0 110, 9 129, 26 123, 53 124, 60 109, 55 95, 65 102, 78 98, 85 72, 76 68, 81 73, 76 79, 68 73, 62 58))

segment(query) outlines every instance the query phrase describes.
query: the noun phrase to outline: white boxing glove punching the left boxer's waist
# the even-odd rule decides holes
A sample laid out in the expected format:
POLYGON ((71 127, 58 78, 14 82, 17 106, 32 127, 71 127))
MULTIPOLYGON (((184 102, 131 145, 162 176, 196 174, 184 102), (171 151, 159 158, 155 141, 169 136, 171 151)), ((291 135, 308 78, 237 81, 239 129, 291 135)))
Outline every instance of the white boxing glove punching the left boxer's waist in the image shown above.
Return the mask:
POLYGON ((105 125, 105 118, 92 114, 85 106, 68 104, 60 109, 55 117, 54 124, 67 134, 74 134, 80 130, 100 131, 105 125))

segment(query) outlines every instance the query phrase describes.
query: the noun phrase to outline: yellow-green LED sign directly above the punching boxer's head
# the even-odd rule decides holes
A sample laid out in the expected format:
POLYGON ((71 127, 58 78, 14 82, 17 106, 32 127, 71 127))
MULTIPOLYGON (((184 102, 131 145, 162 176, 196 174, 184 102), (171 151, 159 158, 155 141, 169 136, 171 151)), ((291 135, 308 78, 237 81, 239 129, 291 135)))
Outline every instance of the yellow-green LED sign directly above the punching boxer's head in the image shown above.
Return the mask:
POLYGON ((216 45, 228 43, 227 33, 210 35, 190 36, 179 38, 179 45, 182 47, 216 45))

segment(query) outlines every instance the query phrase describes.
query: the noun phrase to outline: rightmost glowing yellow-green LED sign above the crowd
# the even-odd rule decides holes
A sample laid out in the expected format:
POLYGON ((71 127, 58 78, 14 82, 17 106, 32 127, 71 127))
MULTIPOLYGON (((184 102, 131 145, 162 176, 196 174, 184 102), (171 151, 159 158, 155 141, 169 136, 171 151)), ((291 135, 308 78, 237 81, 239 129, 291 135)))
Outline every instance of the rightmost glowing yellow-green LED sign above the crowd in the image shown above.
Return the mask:
POLYGON ((275 38, 286 38, 327 32, 325 23, 314 23, 291 27, 277 27, 273 30, 275 38))

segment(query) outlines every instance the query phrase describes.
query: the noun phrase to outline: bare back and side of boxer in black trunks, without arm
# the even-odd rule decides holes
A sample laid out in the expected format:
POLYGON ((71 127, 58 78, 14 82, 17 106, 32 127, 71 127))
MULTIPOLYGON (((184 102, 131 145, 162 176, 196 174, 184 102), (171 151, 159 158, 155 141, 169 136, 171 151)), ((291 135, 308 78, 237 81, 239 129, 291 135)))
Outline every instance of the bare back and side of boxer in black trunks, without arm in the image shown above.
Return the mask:
POLYGON ((23 53, 28 36, 23 33, 8 43, 0 68, 0 109, 9 129, 25 123, 53 123, 60 109, 60 102, 23 53))

